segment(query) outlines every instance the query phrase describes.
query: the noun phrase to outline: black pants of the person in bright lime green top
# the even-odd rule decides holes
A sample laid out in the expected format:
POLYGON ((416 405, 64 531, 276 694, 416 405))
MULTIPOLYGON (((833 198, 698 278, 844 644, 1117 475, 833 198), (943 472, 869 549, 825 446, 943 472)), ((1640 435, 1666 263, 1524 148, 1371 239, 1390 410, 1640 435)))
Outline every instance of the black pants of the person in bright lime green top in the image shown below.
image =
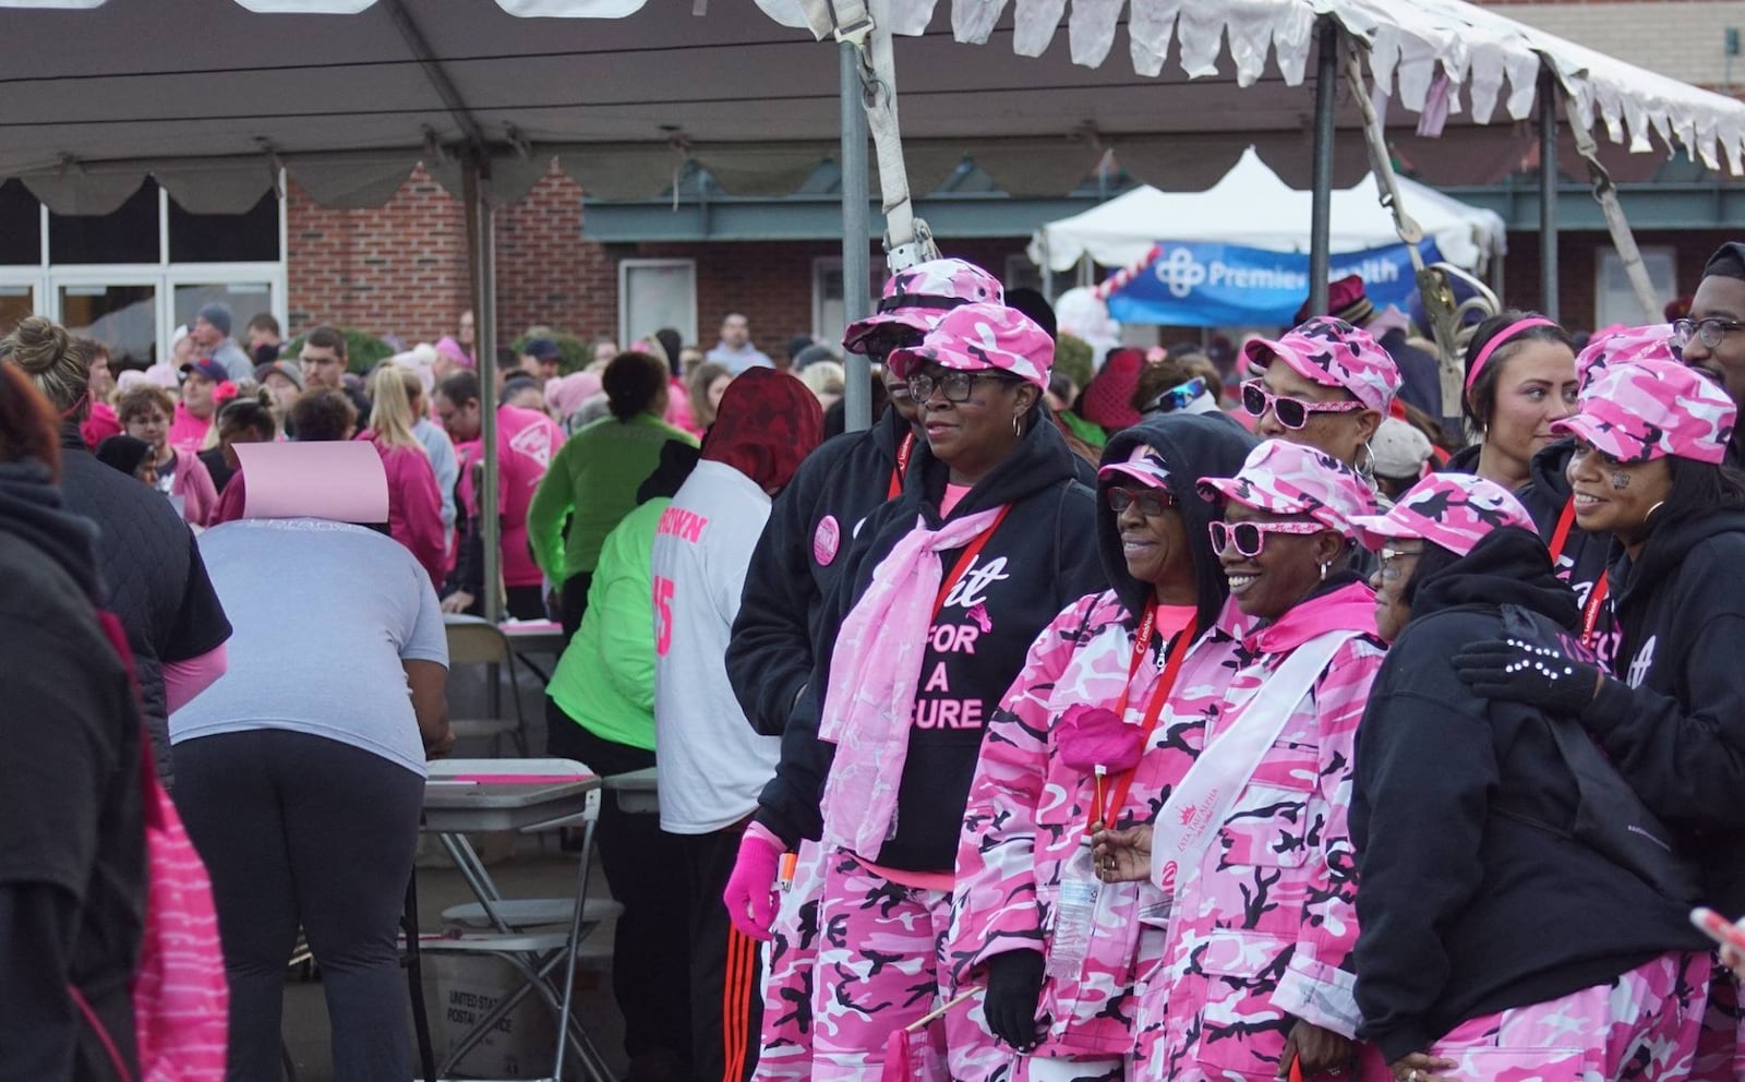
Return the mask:
MULTIPOLYGON (((548 750, 593 773, 654 766, 654 752, 602 740, 546 700, 548 750)), ((632 1077, 691 1079, 691 962, 684 928, 689 894, 677 874, 684 855, 660 829, 660 813, 628 813, 611 792, 600 805, 600 864, 612 897, 625 906, 612 937, 612 996, 625 1016, 632 1077)))

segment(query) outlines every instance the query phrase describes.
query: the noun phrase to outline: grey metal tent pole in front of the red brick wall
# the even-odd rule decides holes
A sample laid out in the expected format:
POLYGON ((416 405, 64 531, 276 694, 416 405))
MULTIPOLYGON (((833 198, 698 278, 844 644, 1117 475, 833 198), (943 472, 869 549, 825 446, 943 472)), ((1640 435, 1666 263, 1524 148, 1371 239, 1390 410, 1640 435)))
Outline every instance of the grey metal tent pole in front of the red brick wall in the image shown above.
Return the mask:
POLYGON ((490 175, 480 157, 469 155, 464 173, 468 264, 473 277, 473 323, 478 330, 478 442, 483 478, 478 492, 478 531, 485 546, 485 620, 503 620, 503 520, 497 517, 497 251, 489 199, 490 175))

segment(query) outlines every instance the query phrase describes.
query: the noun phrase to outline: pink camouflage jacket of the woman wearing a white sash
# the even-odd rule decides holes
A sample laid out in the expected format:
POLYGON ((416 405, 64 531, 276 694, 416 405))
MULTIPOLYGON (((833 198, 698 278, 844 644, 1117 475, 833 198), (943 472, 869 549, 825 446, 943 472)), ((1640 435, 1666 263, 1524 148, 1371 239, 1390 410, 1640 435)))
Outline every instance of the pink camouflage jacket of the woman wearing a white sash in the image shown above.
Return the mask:
POLYGON ((1352 1037, 1361 1021, 1352 972, 1358 941, 1354 853, 1347 827, 1352 747, 1384 647, 1375 595, 1352 583, 1298 604, 1234 647, 1228 679, 1173 696, 1134 789, 1167 794, 1208 742, 1230 731, 1267 677, 1305 640, 1347 640, 1304 696, 1235 798, 1199 876, 1176 899, 1160 963, 1139 991, 1136 1077, 1274 1079, 1293 1019, 1352 1037), (1162 754, 1187 749, 1188 756, 1162 754))

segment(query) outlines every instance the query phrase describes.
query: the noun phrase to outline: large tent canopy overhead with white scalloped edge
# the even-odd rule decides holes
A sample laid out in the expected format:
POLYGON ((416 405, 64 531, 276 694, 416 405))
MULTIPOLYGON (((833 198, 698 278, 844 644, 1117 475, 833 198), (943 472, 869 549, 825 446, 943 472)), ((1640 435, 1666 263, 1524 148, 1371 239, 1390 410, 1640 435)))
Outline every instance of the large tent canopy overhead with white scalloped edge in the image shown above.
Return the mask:
MULTIPOLYGON (((379 206, 421 161, 459 190, 457 155, 482 147, 497 202, 551 159, 604 199, 658 197, 686 157, 729 194, 796 190, 836 148, 836 51, 797 0, 693 3, 0 0, 30 9, 5 16, 0 178, 63 213, 113 209, 147 175, 188 209, 236 211, 283 166, 321 202, 379 206), (152 45, 194 23, 197 59, 152 45)), ((913 187, 968 154, 1007 192, 1057 195, 1113 150, 1153 187, 1202 190, 1249 143, 1307 187, 1323 16, 1365 49, 1426 180, 1513 171, 1541 65, 1618 176, 1675 150, 1745 173, 1740 101, 1461 0, 892 0, 913 187), (1108 63, 1122 28, 1129 63, 1108 63), (1441 138, 1413 134, 1438 103, 1441 138)), ((1368 168, 1349 103, 1340 129, 1349 185, 1368 168)))

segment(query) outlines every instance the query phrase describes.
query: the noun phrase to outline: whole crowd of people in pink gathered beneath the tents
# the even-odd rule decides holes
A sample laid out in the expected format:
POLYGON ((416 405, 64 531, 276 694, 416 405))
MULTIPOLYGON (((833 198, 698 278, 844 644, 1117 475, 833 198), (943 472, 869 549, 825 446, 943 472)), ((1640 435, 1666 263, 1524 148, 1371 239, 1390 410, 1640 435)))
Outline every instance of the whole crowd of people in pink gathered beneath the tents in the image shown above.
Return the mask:
POLYGON ((1745 1077, 1691 921, 1745 913, 1745 244, 1670 323, 1482 319, 1457 408, 1410 316, 1330 297, 1084 387, 953 258, 784 363, 743 314, 569 373, 536 333, 489 510, 469 319, 351 373, 209 305, 119 375, 24 319, 0 1075, 138 1073, 173 785, 229 1077, 277 1077, 298 928, 335 1077, 410 1077, 443 614, 497 592, 562 621, 548 752, 658 773, 599 825, 639 1082, 1745 1077))

